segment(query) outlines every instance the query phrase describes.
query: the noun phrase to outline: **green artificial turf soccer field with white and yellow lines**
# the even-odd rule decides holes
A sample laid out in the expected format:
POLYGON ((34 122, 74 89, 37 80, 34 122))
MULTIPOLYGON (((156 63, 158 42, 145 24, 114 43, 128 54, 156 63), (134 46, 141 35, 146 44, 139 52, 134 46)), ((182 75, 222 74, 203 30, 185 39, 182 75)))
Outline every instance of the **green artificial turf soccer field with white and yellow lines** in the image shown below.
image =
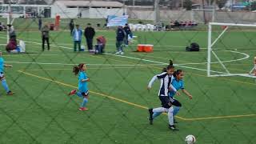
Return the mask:
MULTIPOLYGON (((0 88, 0 143, 182 144, 188 134, 198 144, 256 141, 255 78, 206 77, 206 31, 134 32, 138 38, 123 56, 114 54, 113 30, 97 35, 107 39, 106 54, 74 53, 69 31, 50 32, 51 50, 42 52, 38 30, 18 31, 27 54, 3 54, 14 66, 6 68, 5 74, 15 94, 6 96, 0 88), (190 42, 198 42, 202 50, 186 52, 190 42), (154 52, 134 52, 139 43, 153 44, 154 52), (185 94, 176 96, 182 109, 175 132, 168 129, 166 114, 155 119, 153 126, 147 118, 149 107, 160 106, 159 82, 150 92, 146 86, 169 59, 176 70, 186 71, 185 87, 193 95, 192 100, 185 94), (78 63, 88 67, 88 111, 78 111, 80 98, 67 96, 77 88, 72 66, 78 63)), ((255 31, 231 30, 215 44, 216 54, 230 72, 250 71, 255 35, 255 31)), ((0 33, 0 43, 5 42, 6 34, 0 33)), ((1 50, 5 51, 4 46, 1 50)), ((224 71, 219 63, 211 69, 224 71)))

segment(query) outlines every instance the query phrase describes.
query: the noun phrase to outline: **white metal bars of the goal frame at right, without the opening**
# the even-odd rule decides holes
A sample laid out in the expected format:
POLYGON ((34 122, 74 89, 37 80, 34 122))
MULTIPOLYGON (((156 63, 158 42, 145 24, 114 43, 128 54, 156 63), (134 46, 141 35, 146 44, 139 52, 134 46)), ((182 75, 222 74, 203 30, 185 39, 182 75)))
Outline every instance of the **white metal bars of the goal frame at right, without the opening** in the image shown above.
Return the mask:
POLYGON ((218 39, 222 37, 223 34, 225 34, 226 30, 228 30, 229 26, 244 26, 244 27, 255 27, 256 24, 235 24, 235 23, 221 23, 221 22, 209 22, 208 24, 208 46, 207 46, 207 76, 208 77, 220 77, 220 76, 242 76, 242 77, 249 77, 249 78, 256 78, 256 63, 252 62, 253 68, 252 70, 248 71, 247 74, 231 74, 230 71, 226 68, 224 63, 218 58, 218 55, 215 54, 214 50, 212 47, 216 42, 218 42, 218 39), (222 31, 221 34, 218 35, 218 38, 216 38, 212 42, 212 26, 226 26, 225 29, 222 31), (214 57, 218 60, 218 63, 222 66, 223 70, 226 72, 220 72, 220 71, 213 71, 210 70, 210 65, 211 65, 211 54, 214 55, 214 57), (218 73, 218 74, 211 74, 211 72, 218 73))

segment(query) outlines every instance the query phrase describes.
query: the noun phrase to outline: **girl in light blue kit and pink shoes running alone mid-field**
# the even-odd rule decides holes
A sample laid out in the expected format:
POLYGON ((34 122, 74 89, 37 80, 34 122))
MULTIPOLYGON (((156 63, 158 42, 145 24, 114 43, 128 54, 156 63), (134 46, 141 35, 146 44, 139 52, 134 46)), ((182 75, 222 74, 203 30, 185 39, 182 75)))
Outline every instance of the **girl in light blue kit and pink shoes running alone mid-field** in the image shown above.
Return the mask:
POLYGON ((78 90, 71 90, 69 95, 76 94, 79 98, 82 98, 81 106, 78 110, 88 110, 86 108, 86 103, 89 98, 89 90, 87 83, 90 82, 90 78, 86 74, 86 64, 79 64, 78 66, 73 67, 74 75, 78 75, 78 90))

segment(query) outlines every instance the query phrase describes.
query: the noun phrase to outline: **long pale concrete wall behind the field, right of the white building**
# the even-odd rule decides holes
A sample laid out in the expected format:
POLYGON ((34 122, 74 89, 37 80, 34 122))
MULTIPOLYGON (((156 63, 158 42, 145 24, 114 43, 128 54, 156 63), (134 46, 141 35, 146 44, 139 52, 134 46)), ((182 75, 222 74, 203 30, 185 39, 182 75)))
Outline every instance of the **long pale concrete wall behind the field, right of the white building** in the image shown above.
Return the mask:
MULTIPOLYGON (((130 18, 142 20, 154 20, 153 10, 127 10, 130 18)), ((254 23, 256 22, 256 13, 253 12, 220 12, 206 11, 206 21, 210 22, 237 22, 254 23), (214 17, 213 17, 214 16, 214 17)), ((161 10, 160 19, 162 21, 190 21, 204 22, 203 11, 186 10, 161 10)))

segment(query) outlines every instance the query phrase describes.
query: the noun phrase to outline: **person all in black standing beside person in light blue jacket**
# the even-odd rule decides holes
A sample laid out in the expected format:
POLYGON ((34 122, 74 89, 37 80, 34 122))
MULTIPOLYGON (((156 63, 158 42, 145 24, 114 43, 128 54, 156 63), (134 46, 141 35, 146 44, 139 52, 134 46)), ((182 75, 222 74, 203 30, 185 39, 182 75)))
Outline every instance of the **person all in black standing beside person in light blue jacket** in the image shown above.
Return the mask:
POLYGON ((86 37, 86 43, 87 43, 88 50, 89 51, 93 50, 93 41, 94 41, 95 30, 93 27, 91 27, 90 23, 87 24, 84 35, 86 37))

